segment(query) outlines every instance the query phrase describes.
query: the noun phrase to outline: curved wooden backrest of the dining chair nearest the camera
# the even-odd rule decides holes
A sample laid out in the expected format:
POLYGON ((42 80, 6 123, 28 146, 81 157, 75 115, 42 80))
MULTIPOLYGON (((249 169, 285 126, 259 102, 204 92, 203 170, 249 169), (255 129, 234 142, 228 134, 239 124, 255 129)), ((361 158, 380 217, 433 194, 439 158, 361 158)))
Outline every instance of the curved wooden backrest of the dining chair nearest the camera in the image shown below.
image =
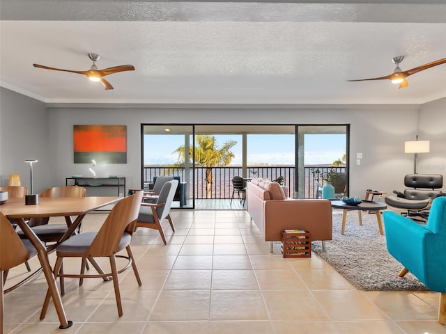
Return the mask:
POLYGON ((89 247, 92 257, 111 256, 118 250, 119 241, 128 232, 133 234, 141 207, 143 191, 135 191, 117 202, 102 224, 89 247))

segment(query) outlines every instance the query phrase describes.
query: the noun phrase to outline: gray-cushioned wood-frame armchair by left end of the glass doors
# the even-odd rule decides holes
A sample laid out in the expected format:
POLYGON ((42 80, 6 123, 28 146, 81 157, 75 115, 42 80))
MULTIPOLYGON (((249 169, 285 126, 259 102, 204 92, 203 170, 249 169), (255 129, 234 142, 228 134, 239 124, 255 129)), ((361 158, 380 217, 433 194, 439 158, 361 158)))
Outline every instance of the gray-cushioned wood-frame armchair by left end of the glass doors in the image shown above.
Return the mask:
POLYGON ((164 219, 167 219, 172 230, 175 232, 174 223, 172 222, 172 218, 170 216, 170 208, 172 202, 174 201, 177 187, 178 180, 171 180, 164 183, 156 202, 142 202, 141 209, 139 209, 139 215, 136 223, 137 228, 153 228, 154 230, 158 230, 164 245, 167 244, 167 241, 166 237, 164 237, 161 222, 164 221, 164 219))

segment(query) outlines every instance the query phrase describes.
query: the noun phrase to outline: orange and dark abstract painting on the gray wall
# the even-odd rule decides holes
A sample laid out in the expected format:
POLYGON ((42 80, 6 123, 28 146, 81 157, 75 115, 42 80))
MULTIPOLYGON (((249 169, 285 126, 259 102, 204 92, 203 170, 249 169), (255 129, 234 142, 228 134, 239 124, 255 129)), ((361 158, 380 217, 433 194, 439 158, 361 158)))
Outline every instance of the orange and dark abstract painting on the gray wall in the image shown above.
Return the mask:
POLYGON ((127 163, 125 125, 75 125, 73 128, 75 164, 127 163))

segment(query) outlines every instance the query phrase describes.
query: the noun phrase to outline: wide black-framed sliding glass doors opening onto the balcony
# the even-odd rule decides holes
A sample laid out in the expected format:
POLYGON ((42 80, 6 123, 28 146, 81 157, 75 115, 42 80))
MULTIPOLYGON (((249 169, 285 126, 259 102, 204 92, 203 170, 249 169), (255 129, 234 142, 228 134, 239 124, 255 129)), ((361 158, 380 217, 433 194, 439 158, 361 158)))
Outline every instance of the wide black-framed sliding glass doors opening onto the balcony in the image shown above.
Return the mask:
POLYGON ((291 198, 321 198, 323 175, 334 171, 336 195, 348 196, 348 125, 142 125, 141 131, 143 186, 149 189, 158 175, 178 178, 176 207, 244 209, 231 201, 236 175, 279 179, 291 198))

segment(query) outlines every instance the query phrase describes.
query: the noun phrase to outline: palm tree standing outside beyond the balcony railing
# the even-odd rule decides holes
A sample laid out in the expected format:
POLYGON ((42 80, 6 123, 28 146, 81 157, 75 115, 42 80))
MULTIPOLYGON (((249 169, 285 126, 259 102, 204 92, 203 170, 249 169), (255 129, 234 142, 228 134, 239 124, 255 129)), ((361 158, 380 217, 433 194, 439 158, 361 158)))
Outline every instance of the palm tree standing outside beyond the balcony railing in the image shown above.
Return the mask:
MULTIPOLYGON (((195 165, 206 168, 206 198, 210 198, 210 189, 212 189, 213 176, 212 169, 215 166, 228 166, 231 164, 235 154, 231 152, 231 148, 236 145, 237 141, 226 141, 221 148, 217 145, 214 136, 197 135, 195 136, 195 165)), ((177 165, 184 166, 185 163, 185 147, 181 145, 174 152, 178 153, 177 165)), ((189 148, 190 157, 192 157, 192 148, 189 148)), ((192 161, 191 161, 192 162, 192 161)))

